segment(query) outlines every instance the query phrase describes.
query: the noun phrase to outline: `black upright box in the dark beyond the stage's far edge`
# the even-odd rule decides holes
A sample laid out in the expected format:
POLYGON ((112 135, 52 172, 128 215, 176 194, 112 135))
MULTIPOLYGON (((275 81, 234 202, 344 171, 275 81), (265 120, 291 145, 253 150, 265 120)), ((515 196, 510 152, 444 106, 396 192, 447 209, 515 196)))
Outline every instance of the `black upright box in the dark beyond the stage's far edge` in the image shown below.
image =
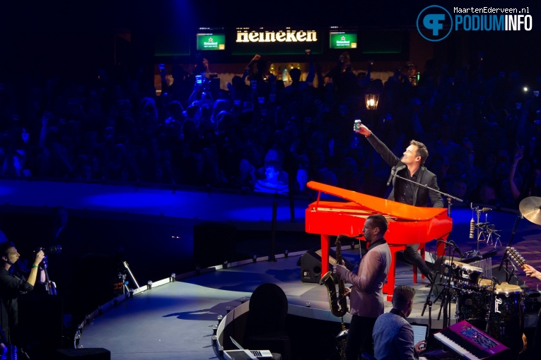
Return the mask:
POLYGON ((203 222, 194 226, 194 261, 200 268, 232 261, 237 228, 223 222, 203 222))

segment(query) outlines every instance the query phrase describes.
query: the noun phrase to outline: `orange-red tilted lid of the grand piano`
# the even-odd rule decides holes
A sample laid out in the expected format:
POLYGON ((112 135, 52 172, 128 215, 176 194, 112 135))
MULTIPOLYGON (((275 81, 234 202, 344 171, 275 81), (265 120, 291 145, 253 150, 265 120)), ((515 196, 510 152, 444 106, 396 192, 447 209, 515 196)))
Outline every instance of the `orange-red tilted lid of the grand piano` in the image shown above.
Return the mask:
POLYGON ((317 181, 308 181, 306 186, 313 190, 322 191, 323 193, 352 201, 359 204, 362 208, 368 208, 381 215, 389 215, 403 220, 426 221, 447 212, 446 208, 420 208, 364 193, 357 193, 356 191, 345 188, 338 188, 337 186, 318 183, 317 181))

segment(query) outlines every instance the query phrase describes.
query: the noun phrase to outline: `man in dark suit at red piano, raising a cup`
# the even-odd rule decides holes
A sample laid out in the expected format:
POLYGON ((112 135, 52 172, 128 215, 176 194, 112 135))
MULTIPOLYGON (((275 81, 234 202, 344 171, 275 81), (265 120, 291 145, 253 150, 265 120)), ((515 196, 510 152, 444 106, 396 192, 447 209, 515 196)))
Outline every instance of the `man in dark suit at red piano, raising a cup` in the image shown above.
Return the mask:
MULTIPOLYGON (((430 198, 434 208, 443 208, 443 200, 436 191, 429 191, 426 188, 415 186, 409 181, 396 177, 396 175, 399 175, 405 179, 439 190, 436 174, 429 172, 424 167, 424 162, 426 161, 426 157, 429 156, 429 151, 423 143, 411 140, 402 157, 397 157, 365 125, 361 125, 356 132, 364 135, 374 150, 392 167, 389 179, 389 183, 392 181, 392 190, 388 197, 389 200, 407 205, 426 207, 430 198)), ((418 248, 419 244, 408 245, 404 251, 404 258, 408 263, 417 266, 430 282, 434 282, 434 272, 431 272, 424 258, 417 252, 418 248)))

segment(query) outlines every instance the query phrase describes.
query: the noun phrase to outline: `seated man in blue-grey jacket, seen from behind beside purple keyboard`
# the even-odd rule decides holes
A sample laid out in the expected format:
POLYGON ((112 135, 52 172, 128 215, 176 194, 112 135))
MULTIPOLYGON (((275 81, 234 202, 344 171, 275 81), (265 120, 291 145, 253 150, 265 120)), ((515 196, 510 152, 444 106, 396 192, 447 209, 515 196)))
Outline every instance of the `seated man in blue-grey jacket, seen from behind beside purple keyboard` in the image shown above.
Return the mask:
POLYGON ((376 360, 414 360, 426 340, 413 343, 413 328, 406 318, 412 313, 415 289, 398 285, 392 293, 392 309, 376 320, 372 332, 376 360))

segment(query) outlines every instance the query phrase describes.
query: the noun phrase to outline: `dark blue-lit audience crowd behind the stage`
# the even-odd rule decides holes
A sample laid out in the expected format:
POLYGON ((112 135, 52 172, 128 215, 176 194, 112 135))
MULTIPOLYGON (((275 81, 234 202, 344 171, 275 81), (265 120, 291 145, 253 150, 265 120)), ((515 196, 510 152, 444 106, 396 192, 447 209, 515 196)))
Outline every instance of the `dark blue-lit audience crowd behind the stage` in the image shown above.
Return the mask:
MULTIPOLYGON (((0 84, 2 179, 129 181, 291 193, 313 180, 386 196, 390 169, 354 133, 354 119, 401 154, 426 144, 441 190, 470 202, 517 208, 541 195, 541 78, 451 71, 434 61, 419 80, 385 82, 340 56, 326 74, 313 55, 305 80, 269 73, 256 55, 241 76, 216 86, 209 62, 161 69, 156 95, 141 71, 96 71, 86 81, 26 74, 0 84), (199 77, 200 76, 200 77, 199 77), (284 86, 284 83, 287 86, 284 86), (367 110, 363 94, 380 94, 367 110)), ((240 69, 242 71, 242 69, 240 69)), ((460 205, 453 203, 454 205, 460 205)))

